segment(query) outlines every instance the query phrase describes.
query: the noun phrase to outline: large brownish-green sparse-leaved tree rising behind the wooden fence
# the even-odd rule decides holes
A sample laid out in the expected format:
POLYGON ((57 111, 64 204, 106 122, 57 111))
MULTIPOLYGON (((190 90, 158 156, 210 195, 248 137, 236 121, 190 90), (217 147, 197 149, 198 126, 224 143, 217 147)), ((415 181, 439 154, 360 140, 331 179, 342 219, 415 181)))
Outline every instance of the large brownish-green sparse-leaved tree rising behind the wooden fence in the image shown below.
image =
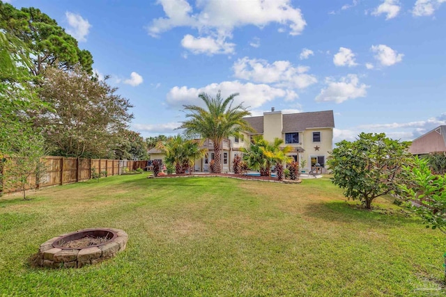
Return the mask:
POLYGON ((54 109, 31 116, 35 127, 43 129, 51 154, 112 158, 119 132, 133 117, 128 99, 77 67, 70 72, 48 68, 43 78, 40 98, 54 109))

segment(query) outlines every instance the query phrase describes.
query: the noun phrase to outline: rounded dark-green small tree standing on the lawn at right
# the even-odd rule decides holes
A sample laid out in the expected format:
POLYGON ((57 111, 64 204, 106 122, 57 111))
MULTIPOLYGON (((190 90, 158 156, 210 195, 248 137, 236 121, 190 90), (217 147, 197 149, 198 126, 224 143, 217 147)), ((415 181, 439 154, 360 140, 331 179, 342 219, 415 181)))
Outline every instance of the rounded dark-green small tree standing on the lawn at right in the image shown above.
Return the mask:
POLYGON ((333 184, 343 188, 348 199, 360 200, 370 209, 375 198, 399 193, 401 166, 412 157, 408 142, 394 141, 383 133, 361 133, 356 141, 336 145, 327 164, 333 184))

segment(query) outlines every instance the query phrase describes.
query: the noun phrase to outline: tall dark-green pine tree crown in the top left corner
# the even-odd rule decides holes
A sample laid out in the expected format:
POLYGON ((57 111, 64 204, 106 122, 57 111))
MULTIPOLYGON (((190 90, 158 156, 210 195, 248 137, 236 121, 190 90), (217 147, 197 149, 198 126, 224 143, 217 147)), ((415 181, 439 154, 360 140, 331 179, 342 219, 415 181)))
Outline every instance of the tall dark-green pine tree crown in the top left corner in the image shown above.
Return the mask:
POLYGON ((37 8, 18 10, 0 1, 0 29, 25 43, 29 53, 22 54, 33 62, 27 66, 34 76, 42 74, 48 66, 69 70, 80 65, 84 71, 92 73, 91 53, 79 49, 75 38, 37 8))

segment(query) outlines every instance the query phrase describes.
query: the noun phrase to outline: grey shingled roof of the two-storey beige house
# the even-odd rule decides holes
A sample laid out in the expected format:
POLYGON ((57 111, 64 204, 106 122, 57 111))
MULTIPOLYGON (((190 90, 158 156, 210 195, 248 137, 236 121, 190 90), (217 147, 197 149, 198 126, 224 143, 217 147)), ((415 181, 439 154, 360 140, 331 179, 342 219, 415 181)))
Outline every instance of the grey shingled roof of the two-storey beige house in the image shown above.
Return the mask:
MULTIPOLYGON (((308 113, 290 113, 283 116, 282 132, 304 131, 312 128, 334 127, 333 111, 314 111, 308 113)), ((263 134, 263 115, 245 118, 256 131, 263 134)))

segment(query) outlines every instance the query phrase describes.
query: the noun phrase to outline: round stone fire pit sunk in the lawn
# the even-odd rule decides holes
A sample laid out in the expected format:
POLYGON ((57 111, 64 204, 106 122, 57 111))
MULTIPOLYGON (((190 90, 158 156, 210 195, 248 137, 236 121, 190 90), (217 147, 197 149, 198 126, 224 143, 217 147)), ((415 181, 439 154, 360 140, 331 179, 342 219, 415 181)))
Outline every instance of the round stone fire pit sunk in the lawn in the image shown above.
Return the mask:
POLYGON ((125 250, 127 241, 128 234, 119 229, 77 230, 42 243, 38 251, 39 264, 51 268, 81 268, 85 265, 97 264, 125 250), (92 239, 91 242, 84 245, 84 241, 89 241, 89 239, 92 239))

